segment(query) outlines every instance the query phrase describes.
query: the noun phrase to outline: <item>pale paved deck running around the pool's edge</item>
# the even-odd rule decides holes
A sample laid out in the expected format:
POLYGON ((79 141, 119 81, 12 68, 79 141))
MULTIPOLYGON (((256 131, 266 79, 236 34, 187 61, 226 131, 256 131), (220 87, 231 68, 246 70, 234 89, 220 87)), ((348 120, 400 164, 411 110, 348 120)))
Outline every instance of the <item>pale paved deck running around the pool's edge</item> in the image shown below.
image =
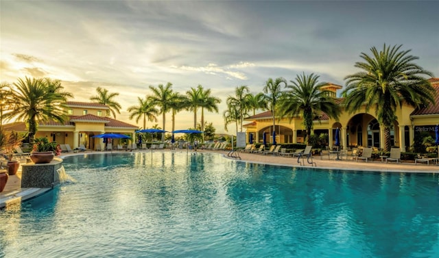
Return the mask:
MULTIPOLYGON (((162 151, 162 150, 154 150, 162 151)), ((171 151, 165 149, 163 151, 171 151)), ((181 151, 181 150, 180 150, 181 151)), ((139 151, 145 152, 145 151, 139 151)), ((214 152, 221 153, 224 157, 227 157, 228 152, 224 151, 206 151, 199 150, 198 153, 204 152, 214 152)), ((86 154, 93 153, 103 153, 103 152, 86 152, 86 154)), ((117 151, 113 151, 117 153, 117 151)), ((123 151, 123 153, 126 153, 123 151)), ((193 154, 193 151, 189 151, 193 154)), ((66 153, 62 154, 61 157, 66 157, 69 155, 84 155, 84 153, 66 153)), ((252 162, 257 164, 270 164, 270 165, 281 165, 281 166, 291 166, 291 167, 307 167, 311 168, 311 164, 307 163, 305 159, 305 166, 300 166, 297 157, 282 157, 274 155, 261 155, 252 153, 241 153, 239 152, 239 157, 241 157, 242 162, 252 162)), ((238 159, 239 160, 239 159, 238 159)), ((320 156, 313 157, 313 162, 316 166, 313 168, 324 168, 324 169, 338 169, 338 170, 354 170, 354 171, 376 171, 376 172, 414 172, 414 173, 439 173, 439 166, 436 164, 414 164, 409 162, 381 162, 381 160, 374 160, 372 162, 355 162, 351 159, 320 159, 320 156)), ((51 188, 21 188, 21 166, 19 172, 16 175, 9 176, 8 183, 6 183, 5 189, 0 193, 0 208, 8 207, 14 205, 15 203, 21 203, 29 198, 38 196, 51 190, 51 188)))

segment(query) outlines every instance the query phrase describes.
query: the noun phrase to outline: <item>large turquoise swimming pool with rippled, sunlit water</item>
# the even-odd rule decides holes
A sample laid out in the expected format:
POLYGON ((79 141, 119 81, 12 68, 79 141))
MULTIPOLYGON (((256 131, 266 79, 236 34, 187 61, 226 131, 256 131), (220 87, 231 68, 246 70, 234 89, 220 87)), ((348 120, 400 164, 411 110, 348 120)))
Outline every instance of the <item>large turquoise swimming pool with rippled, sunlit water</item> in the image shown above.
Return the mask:
POLYGON ((438 257, 438 175, 217 153, 66 157, 72 180, 0 210, 0 257, 438 257))

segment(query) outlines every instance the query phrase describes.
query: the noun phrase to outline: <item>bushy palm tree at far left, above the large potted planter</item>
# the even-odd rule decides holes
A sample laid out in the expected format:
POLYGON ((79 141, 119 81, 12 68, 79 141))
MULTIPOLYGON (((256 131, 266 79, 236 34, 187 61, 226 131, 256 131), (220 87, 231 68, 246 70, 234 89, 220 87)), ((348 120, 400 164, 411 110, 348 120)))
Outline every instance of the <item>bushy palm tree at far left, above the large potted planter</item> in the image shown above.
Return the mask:
POLYGON ((14 97, 15 105, 8 118, 16 117, 17 120, 25 120, 29 129, 29 142, 38 130, 37 122, 55 120, 64 122, 66 117, 65 103, 69 92, 63 92, 60 83, 56 86, 50 84, 47 79, 19 79, 14 83, 16 88, 14 97))

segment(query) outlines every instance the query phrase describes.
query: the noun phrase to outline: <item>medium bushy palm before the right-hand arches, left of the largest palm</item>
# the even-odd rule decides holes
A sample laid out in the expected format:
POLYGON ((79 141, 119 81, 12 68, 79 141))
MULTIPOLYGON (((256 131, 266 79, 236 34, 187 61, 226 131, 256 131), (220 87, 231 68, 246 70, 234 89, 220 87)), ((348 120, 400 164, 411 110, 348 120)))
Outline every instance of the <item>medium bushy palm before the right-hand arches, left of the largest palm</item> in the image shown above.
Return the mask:
POLYGON ((333 97, 321 90, 327 83, 318 83, 318 75, 296 76, 296 81, 291 81, 292 85, 287 86, 285 94, 279 100, 280 117, 287 116, 292 118, 302 115, 303 125, 307 130, 307 142, 311 144, 311 131, 313 129, 314 118, 319 118, 322 112, 330 118, 337 119, 340 115, 340 106, 337 105, 333 97))

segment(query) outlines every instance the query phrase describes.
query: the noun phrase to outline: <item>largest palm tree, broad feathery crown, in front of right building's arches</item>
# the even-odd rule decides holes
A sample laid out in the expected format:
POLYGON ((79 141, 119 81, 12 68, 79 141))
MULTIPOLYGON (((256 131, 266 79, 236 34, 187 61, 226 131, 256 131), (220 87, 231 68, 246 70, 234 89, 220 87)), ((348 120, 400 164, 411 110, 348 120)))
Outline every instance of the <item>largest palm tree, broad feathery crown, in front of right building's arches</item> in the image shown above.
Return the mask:
POLYGON ((386 47, 378 51, 372 47, 372 55, 361 53, 364 62, 356 62, 362 71, 348 75, 346 89, 346 110, 355 112, 365 106, 366 112, 375 107, 375 114, 384 132, 384 148, 390 150, 390 130, 396 120, 396 108, 403 103, 421 107, 435 103, 434 88, 421 75, 433 76, 413 61, 418 57, 408 55, 411 50, 400 51, 402 45, 386 47))

